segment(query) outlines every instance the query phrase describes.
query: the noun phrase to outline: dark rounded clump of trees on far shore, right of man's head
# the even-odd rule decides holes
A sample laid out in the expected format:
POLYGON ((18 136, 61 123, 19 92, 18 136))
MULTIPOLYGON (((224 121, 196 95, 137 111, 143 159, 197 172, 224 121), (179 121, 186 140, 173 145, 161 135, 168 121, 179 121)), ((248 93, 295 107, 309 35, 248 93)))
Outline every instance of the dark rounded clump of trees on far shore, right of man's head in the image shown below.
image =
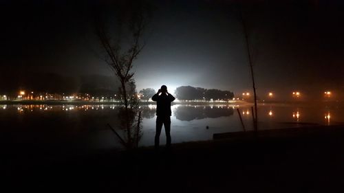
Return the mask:
POLYGON ((234 97, 234 93, 219 89, 182 86, 175 90, 175 97, 179 100, 231 100, 234 97))

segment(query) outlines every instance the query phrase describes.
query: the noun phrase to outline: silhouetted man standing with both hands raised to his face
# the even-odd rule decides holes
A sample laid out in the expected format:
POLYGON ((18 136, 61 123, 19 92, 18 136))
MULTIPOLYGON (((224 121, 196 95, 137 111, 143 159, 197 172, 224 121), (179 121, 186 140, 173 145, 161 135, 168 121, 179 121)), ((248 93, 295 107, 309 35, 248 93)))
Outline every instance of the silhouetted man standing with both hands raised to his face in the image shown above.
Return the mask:
POLYGON ((155 93, 151 100, 156 101, 156 132, 155 132, 155 148, 159 148, 160 133, 162 129, 162 124, 165 127, 166 133, 166 148, 171 146, 171 102, 175 100, 173 95, 167 92, 167 87, 165 85, 161 86, 158 93, 155 93))

